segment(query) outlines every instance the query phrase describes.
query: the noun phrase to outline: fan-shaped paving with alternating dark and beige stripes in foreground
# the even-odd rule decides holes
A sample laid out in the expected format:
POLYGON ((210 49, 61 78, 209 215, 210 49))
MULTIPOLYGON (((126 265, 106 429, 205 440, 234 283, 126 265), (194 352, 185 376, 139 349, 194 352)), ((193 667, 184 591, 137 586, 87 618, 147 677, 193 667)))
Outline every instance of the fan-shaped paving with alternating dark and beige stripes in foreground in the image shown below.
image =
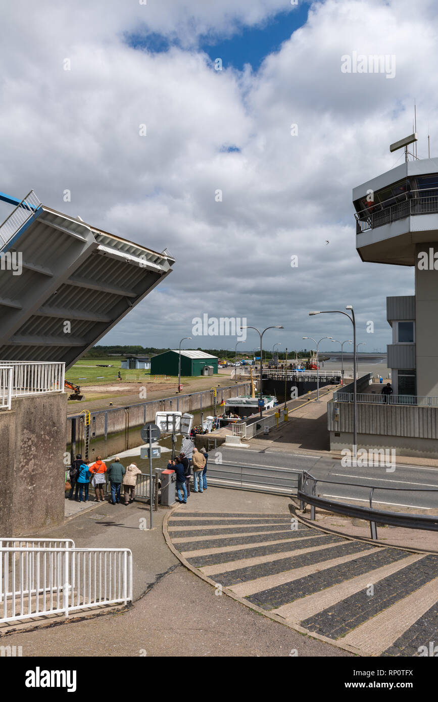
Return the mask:
POLYGON ((287 513, 179 510, 167 524, 192 567, 310 635, 366 656, 438 644, 437 556, 296 527, 287 513))

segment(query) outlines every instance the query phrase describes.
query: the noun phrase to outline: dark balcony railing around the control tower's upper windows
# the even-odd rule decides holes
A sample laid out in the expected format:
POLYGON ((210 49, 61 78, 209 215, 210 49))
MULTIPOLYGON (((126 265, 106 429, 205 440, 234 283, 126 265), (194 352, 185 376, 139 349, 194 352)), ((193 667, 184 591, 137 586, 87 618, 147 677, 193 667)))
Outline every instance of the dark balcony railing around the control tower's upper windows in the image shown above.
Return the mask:
POLYGON ((405 217, 434 213, 438 213, 438 188, 409 190, 383 202, 370 202, 369 207, 355 213, 356 233, 361 234, 405 217))

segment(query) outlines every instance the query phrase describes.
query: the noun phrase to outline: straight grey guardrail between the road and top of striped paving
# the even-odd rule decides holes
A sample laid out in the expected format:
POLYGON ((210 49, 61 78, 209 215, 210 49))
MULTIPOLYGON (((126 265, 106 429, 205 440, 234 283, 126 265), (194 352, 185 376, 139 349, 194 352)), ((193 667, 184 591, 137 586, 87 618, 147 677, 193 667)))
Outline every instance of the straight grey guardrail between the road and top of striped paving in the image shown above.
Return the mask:
POLYGON ((297 495, 301 472, 208 461, 208 484, 275 495, 297 495))

